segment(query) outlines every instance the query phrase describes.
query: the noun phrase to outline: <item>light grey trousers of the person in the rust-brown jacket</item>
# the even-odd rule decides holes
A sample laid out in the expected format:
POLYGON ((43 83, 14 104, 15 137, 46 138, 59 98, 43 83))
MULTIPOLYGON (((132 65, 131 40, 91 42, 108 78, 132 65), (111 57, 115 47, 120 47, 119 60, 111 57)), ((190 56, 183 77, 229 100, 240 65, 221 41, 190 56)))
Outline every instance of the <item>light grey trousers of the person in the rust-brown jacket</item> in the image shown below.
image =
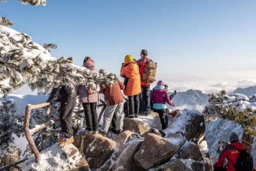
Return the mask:
POLYGON ((122 132, 123 130, 123 103, 107 106, 103 114, 102 131, 107 132, 109 130, 112 118, 116 116, 116 130, 122 132))

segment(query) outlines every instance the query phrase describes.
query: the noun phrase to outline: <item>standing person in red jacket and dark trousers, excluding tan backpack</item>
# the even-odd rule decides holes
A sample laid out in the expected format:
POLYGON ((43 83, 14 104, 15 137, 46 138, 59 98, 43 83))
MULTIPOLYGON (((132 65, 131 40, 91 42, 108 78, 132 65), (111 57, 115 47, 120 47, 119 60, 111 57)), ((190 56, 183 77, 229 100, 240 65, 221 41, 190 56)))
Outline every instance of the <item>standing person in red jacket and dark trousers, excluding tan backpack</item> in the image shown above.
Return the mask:
MULTIPOLYGON (((139 66, 139 72, 140 76, 142 76, 143 71, 145 69, 146 62, 150 60, 148 58, 148 52, 147 50, 143 49, 140 53, 141 59, 137 61, 137 65, 139 66)), ((146 83, 143 80, 141 80, 141 93, 140 93, 140 111, 139 113, 141 115, 149 115, 152 113, 152 110, 150 109, 150 85, 152 83, 146 83)))

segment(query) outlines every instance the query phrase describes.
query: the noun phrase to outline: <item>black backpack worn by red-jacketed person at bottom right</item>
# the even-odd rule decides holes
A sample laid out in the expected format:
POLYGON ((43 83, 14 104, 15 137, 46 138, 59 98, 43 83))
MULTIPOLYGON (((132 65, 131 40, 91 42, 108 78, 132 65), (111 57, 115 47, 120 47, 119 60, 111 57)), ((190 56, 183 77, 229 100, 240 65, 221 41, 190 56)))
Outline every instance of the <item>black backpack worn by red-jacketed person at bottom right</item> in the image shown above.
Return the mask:
MULTIPOLYGON (((238 149, 239 150, 239 149, 238 149)), ((252 171, 253 170, 253 158, 246 150, 239 150, 237 162, 233 164, 236 171, 252 171)))

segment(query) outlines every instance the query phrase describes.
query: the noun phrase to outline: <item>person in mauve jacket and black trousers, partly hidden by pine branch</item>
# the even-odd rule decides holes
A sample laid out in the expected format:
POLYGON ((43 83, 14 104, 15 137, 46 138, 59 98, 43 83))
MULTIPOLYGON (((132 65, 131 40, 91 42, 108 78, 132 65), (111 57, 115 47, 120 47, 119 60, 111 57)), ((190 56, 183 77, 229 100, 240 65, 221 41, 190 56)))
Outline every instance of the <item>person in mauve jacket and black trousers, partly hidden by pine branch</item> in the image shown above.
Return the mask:
MULTIPOLYGON (((87 58, 87 57, 86 57, 87 58)), ((84 60, 83 66, 92 72, 97 72, 95 69, 94 61, 90 58, 84 60)), ((98 133, 98 115, 97 115, 97 102, 99 101, 99 87, 85 87, 83 85, 76 86, 77 93, 79 94, 79 102, 82 103, 86 121, 86 132, 98 133)))

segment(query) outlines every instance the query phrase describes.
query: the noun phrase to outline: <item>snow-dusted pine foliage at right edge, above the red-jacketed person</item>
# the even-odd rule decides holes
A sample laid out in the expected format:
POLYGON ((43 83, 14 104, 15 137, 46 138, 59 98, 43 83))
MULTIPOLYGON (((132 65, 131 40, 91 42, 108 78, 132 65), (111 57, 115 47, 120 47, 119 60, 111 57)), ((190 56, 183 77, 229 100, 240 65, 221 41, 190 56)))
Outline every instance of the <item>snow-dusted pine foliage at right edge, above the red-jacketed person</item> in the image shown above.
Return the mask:
POLYGON ((226 95, 224 90, 210 93, 203 115, 207 123, 224 118, 240 124, 246 132, 256 135, 256 94, 246 95, 232 93, 226 95))

